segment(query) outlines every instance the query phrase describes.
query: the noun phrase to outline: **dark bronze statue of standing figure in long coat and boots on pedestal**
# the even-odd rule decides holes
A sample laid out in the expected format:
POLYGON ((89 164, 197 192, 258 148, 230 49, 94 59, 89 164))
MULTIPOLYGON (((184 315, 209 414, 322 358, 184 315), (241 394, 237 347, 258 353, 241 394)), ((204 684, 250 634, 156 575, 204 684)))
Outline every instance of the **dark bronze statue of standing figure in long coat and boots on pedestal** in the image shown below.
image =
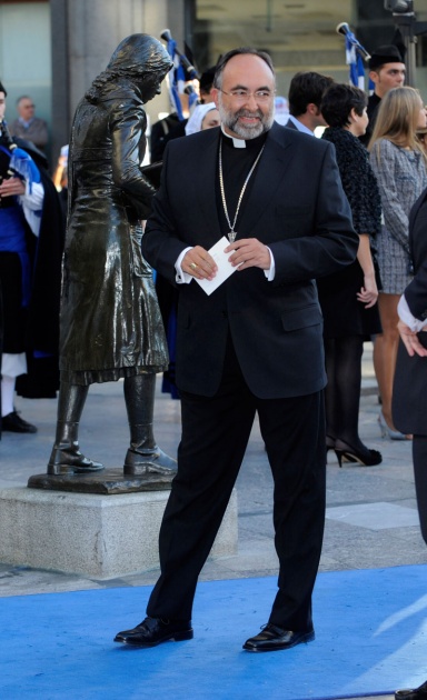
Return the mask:
POLYGON ((50 474, 103 469, 80 452, 79 421, 89 386, 120 378, 130 427, 125 474, 176 472, 152 431, 156 373, 168 353, 152 271, 141 254, 141 221, 155 189, 140 169, 143 104, 160 92, 171 66, 157 39, 123 39, 75 114, 50 474))

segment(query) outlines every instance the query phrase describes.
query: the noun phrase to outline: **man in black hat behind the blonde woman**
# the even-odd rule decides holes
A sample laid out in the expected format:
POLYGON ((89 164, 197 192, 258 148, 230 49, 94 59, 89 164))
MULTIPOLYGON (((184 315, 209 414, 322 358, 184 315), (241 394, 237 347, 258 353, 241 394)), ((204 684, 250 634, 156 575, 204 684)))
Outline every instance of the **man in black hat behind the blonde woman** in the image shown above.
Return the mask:
POLYGON ((368 127, 359 137, 364 146, 368 146, 377 119, 381 99, 393 88, 401 88, 405 82, 406 68, 400 51, 393 44, 376 49, 369 59, 369 78, 375 84, 368 99, 368 127))

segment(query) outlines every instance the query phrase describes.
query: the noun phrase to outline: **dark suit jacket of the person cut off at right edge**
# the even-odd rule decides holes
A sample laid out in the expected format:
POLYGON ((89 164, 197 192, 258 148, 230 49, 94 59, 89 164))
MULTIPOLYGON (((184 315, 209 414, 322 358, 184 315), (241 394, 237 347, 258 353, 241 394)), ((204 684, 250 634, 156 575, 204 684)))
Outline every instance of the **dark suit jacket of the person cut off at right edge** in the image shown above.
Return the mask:
MULTIPOLYGON (((415 318, 427 319, 427 189, 417 199, 409 216, 409 246, 415 277, 405 289, 405 298, 415 318)), ((418 333, 427 348, 427 332, 418 333)), ((427 358, 409 357, 400 341, 393 389, 393 419, 396 428, 409 434, 427 436, 427 358)))

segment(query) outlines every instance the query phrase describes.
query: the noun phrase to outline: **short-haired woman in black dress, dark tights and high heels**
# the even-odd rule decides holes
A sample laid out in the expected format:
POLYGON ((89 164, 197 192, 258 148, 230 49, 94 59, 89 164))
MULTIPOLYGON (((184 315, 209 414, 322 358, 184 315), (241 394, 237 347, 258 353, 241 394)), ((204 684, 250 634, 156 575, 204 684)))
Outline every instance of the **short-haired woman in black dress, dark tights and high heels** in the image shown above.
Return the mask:
POLYGON ((368 124, 367 97, 349 84, 332 84, 321 112, 329 124, 322 138, 336 149, 342 187, 359 233, 357 259, 342 272, 317 280, 325 321, 327 448, 342 460, 369 467, 383 460, 359 438, 364 341, 381 331, 377 308, 378 276, 371 242, 380 230, 380 197, 369 156, 358 137, 368 124))

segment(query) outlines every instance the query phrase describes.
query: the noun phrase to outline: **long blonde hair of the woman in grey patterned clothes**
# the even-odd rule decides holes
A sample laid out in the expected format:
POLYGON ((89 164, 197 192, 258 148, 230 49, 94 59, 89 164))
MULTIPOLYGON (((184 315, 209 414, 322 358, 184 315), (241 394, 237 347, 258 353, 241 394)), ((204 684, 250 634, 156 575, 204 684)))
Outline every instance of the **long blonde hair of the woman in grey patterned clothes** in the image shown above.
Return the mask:
POLYGON ((423 104, 421 97, 415 88, 403 87, 389 90, 378 107, 368 150, 373 149, 378 139, 388 139, 395 146, 420 151, 424 154, 416 138, 420 103, 423 104))

